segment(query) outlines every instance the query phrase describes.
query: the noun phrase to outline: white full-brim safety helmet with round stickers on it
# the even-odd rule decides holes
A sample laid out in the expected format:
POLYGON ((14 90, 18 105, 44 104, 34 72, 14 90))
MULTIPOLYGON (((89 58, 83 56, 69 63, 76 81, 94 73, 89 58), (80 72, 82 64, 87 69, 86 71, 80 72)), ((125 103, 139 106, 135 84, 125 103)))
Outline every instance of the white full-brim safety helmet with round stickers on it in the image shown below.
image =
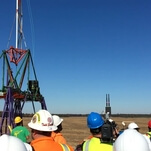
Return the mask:
POLYGON ((55 131, 57 127, 54 125, 53 117, 47 110, 39 110, 34 114, 28 126, 31 129, 39 131, 55 131))

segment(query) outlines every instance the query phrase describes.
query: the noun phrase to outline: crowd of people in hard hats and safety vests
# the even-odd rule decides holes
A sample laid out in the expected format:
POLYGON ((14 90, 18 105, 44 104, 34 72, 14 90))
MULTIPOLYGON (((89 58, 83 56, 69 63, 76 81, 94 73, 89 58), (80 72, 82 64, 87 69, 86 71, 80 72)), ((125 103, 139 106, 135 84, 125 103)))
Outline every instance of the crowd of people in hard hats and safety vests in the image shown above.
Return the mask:
POLYGON ((58 115, 39 110, 28 123, 29 132, 23 126, 23 119, 17 116, 10 135, 0 136, 0 151, 151 151, 151 120, 146 134, 141 134, 134 122, 120 133, 115 121, 104 120, 99 113, 91 112, 87 116, 90 136, 75 148, 62 135, 62 122, 58 115))

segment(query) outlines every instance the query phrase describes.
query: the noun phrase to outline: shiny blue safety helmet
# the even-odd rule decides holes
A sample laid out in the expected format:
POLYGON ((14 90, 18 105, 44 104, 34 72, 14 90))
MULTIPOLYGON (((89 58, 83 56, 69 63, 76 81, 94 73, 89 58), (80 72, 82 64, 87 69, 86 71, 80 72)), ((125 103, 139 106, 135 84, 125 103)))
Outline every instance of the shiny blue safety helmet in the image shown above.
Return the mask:
POLYGON ((99 113, 91 112, 87 117, 87 126, 90 129, 96 129, 104 124, 104 120, 99 113))

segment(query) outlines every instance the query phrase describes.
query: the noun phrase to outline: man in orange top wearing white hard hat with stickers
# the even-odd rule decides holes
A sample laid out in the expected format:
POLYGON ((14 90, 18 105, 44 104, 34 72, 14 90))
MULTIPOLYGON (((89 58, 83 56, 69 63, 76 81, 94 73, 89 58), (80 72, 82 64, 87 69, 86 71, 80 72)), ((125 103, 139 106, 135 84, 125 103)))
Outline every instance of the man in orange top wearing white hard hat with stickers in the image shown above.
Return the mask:
POLYGON ((57 130, 53 117, 47 110, 39 110, 34 114, 28 126, 31 128, 30 145, 35 151, 73 151, 69 145, 59 144, 53 140, 51 132, 57 130))

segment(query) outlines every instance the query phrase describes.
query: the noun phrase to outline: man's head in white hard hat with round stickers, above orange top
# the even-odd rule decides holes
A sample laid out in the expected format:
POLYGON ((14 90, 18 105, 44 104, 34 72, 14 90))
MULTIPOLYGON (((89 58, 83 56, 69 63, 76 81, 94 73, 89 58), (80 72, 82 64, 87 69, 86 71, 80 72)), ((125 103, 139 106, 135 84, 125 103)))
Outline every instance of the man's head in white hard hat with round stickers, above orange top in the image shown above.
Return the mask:
POLYGON ((35 113, 28 126, 31 128, 33 139, 41 136, 50 136, 52 131, 57 130, 53 117, 47 110, 39 110, 35 113))

